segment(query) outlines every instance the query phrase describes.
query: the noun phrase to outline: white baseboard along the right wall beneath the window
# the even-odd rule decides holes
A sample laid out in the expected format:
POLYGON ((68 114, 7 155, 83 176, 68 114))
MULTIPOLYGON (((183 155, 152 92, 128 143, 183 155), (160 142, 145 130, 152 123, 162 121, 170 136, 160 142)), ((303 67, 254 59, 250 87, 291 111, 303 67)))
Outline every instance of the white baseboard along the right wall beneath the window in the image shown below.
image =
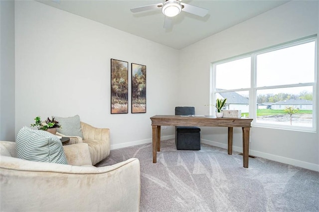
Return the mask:
MULTIPOLYGON (((223 149, 227 149, 227 147, 228 147, 227 144, 223 144, 223 143, 219 143, 219 142, 215 142, 215 141, 210 141, 210 140, 205 140, 205 139, 201 139, 201 143, 208 144, 211 146, 217 146, 217 147, 220 147, 223 149)), ((243 152, 243 148, 238 147, 238 146, 233 146, 233 151, 243 152)), ((254 150, 249 150, 249 155, 261 157, 261 158, 265 158, 268 160, 273 160, 273 161, 277 161, 280 163, 285 163, 285 164, 298 166, 298 167, 302 167, 305 169, 310 169, 310 170, 319 172, 319 165, 314 164, 314 163, 308 163, 305 161, 295 160, 292 158, 286 158, 286 157, 273 155, 273 154, 269 154, 269 153, 265 153, 265 152, 254 151, 254 150)))

